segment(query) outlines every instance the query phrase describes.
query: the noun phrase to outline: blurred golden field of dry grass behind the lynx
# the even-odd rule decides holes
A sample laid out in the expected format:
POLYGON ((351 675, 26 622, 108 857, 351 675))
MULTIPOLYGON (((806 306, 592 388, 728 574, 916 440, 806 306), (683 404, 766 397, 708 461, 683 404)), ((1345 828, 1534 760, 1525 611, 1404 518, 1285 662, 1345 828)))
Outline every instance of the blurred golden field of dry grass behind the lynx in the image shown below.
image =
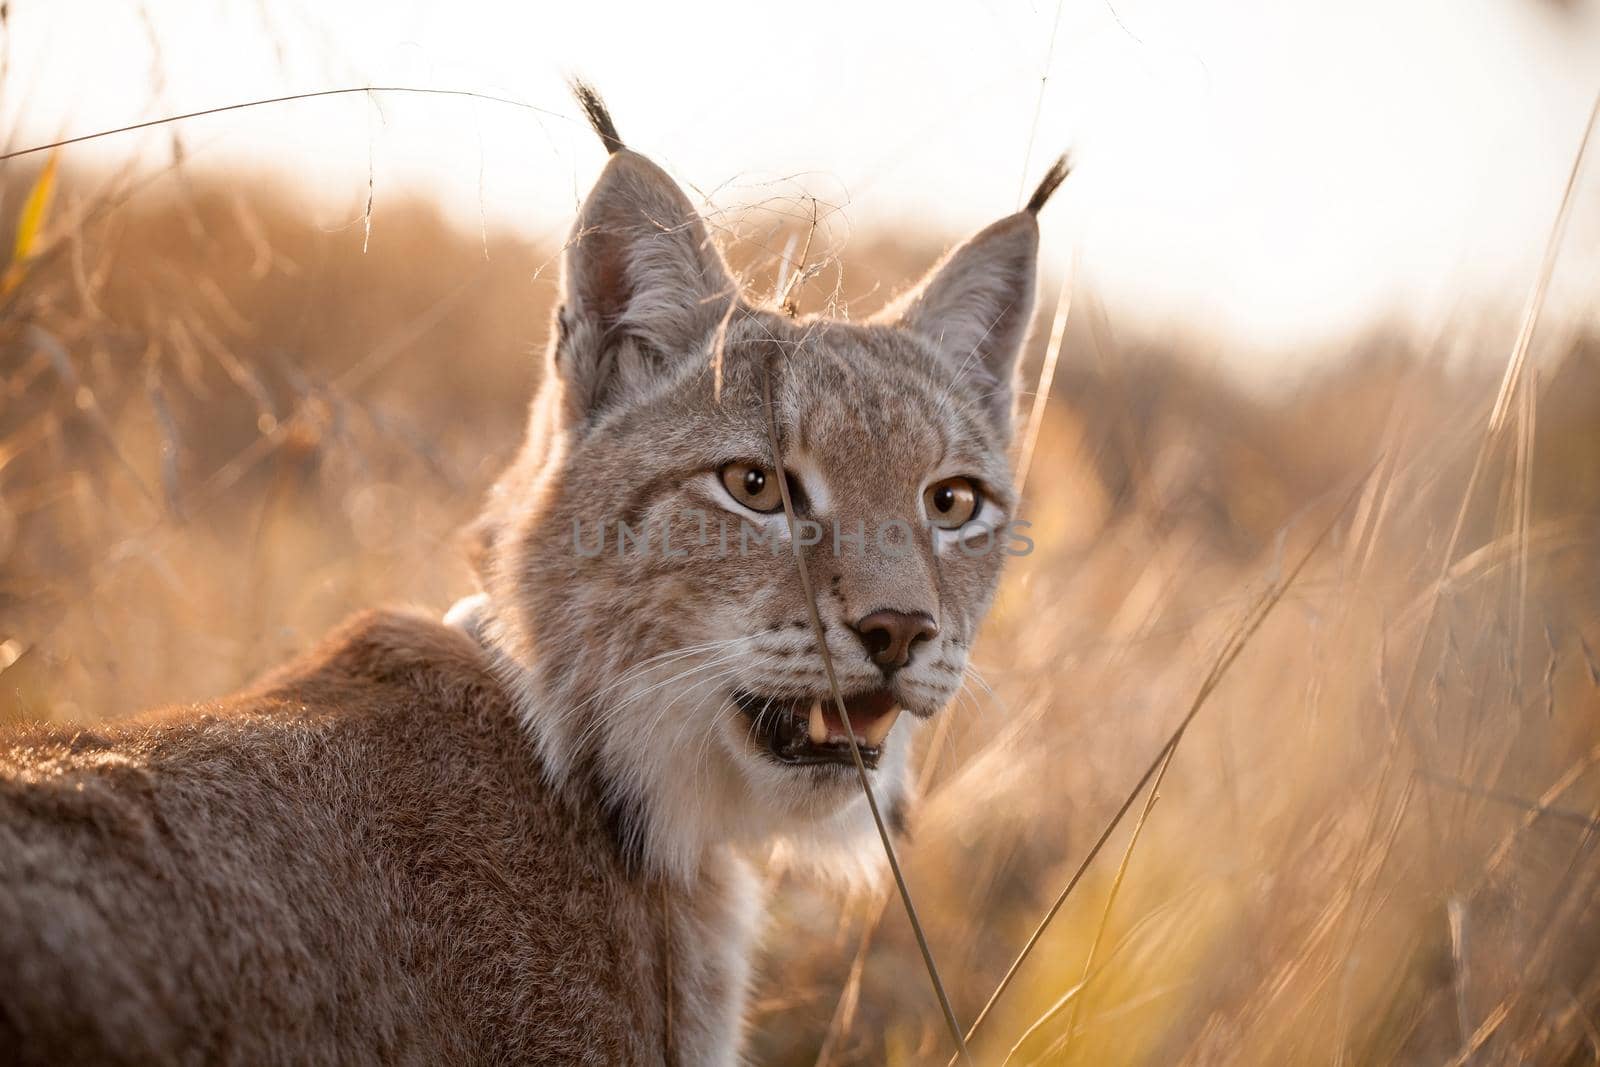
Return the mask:
MULTIPOLYGON (((181 154, 5 171, 0 721, 222 694, 352 611, 472 589, 458 531, 517 445, 558 246, 349 194, 330 226, 181 154)), ((808 213, 718 218, 754 291, 808 213)), ((824 234, 802 310, 862 317, 957 237, 870 222, 824 234)), ((1352 322, 1264 386, 1061 282, 1026 368, 1069 309, 1037 550, 902 845, 963 1024, 1194 721, 979 1062, 1600 1062, 1600 336, 1550 318, 1514 362, 1507 286, 1352 322)), ((770 881, 752 1062, 944 1062, 898 901, 770 881)))

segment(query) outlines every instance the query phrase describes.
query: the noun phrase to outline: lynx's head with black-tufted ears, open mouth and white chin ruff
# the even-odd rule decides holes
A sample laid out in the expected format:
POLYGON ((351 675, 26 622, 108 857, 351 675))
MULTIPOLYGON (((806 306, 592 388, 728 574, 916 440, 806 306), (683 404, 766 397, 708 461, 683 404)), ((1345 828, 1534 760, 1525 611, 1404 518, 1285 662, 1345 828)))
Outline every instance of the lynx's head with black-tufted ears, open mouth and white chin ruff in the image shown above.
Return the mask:
POLYGON ((960 688, 1019 544, 1011 381, 1034 216, 1066 168, 875 320, 795 318, 741 294, 683 192, 579 96, 611 157, 480 523, 482 637, 547 771, 598 784, 634 859, 690 875, 707 846, 776 841, 848 865, 870 822, 795 542, 902 817, 915 729, 960 688))

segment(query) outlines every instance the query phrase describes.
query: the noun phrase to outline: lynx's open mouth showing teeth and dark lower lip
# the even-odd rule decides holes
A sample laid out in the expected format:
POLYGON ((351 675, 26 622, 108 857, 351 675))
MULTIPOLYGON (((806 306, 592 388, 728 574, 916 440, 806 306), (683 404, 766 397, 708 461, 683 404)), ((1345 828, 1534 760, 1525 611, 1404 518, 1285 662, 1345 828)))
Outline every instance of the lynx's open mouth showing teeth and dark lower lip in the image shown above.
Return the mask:
MULTIPOLYGON (((850 733, 832 694, 789 697, 736 693, 733 701, 750 720, 752 737, 779 763, 854 765, 850 733)), ((861 749, 861 761, 877 768, 883 741, 899 718, 901 705, 888 689, 867 689, 846 694, 845 712, 861 749)))

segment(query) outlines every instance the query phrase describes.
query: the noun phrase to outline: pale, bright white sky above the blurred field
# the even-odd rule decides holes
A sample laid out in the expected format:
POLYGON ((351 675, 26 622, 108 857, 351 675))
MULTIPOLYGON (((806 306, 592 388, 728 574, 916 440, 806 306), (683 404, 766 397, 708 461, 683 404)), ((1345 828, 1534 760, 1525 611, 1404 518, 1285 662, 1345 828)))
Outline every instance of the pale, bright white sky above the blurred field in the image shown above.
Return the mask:
MULTIPOLYGON (((955 238, 1014 210, 1070 147, 1046 266, 1077 261, 1125 328, 1203 328, 1259 358, 1376 315, 1430 326, 1475 298, 1522 302, 1600 91, 1600 13, 1568 6, 1064 0, 1051 51, 1045 0, 13 0, 0 128, 29 142, 344 85, 496 93, 555 115, 352 96, 181 134, 195 166, 302 181, 318 221, 365 198, 371 162, 374 227, 387 197, 424 189, 464 227, 482 213, 552 237, 603 162, 571 122, 568 72, 712 205, 816 195, 840 206, 835 242, 902 226, 955 238)), ((155 131, 70 152, 166 146, 155 131)), ((1600 288, 1589 171, 1566 310, 1600 288)))

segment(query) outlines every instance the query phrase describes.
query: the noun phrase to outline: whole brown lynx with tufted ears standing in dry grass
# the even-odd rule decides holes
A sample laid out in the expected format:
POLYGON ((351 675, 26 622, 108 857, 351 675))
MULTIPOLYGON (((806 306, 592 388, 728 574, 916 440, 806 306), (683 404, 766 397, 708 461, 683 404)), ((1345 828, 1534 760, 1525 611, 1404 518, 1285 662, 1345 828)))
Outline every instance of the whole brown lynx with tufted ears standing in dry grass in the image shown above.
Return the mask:
POLYGON ((474 526, 482 592, 360 616, 224 701, 0 736, 8 1062, 738 1062, 752 861, 882 859, 786 488, 875 531, 800 550, 904 827, 1005 560, 963 545, 1018 518, 1011 382, 1066 165, 875 318, 806 318, 744 296, 576 88, 610 158, 474 526), (622 526, 672 552, 574 550, 622 526), (789 550, 718 550, 741 536, 789 550))

